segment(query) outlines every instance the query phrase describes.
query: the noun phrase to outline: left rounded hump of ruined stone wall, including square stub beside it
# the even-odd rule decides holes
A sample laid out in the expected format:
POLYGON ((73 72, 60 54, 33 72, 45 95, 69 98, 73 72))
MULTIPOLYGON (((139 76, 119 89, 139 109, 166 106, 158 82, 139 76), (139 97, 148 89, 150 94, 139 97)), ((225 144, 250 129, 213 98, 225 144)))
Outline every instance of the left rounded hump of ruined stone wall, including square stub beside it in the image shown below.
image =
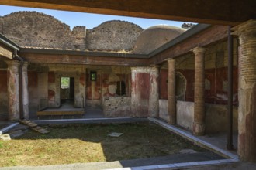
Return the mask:
POLYGON ((85 49, 85 26, 70 27, 40 12, 14 12, 0 17, 0 32, 19 46, 85 49))

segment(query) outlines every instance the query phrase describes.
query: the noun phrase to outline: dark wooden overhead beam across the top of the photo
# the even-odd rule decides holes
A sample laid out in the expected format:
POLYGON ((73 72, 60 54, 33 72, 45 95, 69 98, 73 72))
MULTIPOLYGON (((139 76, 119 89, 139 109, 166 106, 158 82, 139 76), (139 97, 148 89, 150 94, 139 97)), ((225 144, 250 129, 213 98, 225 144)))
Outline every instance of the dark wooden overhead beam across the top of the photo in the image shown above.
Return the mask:
POLYGON ((256 19, 254 0, 1 0, 0 4, 230 26, 256 19))

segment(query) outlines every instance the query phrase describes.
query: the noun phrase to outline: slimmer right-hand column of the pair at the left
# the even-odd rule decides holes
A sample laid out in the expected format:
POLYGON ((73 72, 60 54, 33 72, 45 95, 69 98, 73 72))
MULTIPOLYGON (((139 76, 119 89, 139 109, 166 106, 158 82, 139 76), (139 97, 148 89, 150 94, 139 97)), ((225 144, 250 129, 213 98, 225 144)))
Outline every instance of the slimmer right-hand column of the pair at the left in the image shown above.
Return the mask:
POLYGON ((29 119, 29 88, 28 88, 28 64, 23 63, 22 66, 22 100, 23 100, 23 115, 24 118, 29 119))

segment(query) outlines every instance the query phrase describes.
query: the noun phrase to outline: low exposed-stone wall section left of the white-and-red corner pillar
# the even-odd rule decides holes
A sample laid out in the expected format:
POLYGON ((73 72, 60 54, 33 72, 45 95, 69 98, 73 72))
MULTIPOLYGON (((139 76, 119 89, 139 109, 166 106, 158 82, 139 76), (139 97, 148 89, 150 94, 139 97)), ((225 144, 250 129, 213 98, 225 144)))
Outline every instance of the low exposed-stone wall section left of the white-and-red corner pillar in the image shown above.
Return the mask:
POLYGON ((130 97, 104 97, 102 106, 106 117, 130 117, 130 97))

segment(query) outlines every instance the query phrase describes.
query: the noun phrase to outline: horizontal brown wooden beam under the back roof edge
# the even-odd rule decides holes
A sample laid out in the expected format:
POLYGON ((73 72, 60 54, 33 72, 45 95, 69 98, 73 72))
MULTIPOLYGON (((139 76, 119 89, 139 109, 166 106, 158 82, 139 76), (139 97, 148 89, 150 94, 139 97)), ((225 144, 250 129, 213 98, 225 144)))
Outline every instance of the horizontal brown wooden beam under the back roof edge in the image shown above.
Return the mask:
POLYGON ((62 54, 19 53, 29 63, 60 63, 97 66, 147 66, 148 59, 109 56, 76 56, 62 54))

